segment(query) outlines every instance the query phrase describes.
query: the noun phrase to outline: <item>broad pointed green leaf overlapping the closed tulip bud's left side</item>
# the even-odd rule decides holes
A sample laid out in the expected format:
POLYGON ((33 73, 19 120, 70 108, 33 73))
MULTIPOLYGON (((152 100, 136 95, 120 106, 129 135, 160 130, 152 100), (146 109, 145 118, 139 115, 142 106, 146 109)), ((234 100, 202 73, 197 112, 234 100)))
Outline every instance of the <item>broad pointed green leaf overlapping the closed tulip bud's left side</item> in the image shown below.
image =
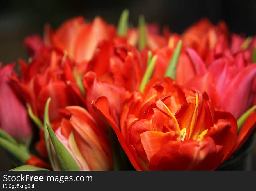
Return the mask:
POLYGON ((81 170, 73 156, 70 152, 66 149, 66 147, 61 143, 61 141, 57 138, 52 128, 49 124, 46 124, 51 142, 54 146, 56 151, 56 155, 59 160, 59 164, 62 170, 81 170))

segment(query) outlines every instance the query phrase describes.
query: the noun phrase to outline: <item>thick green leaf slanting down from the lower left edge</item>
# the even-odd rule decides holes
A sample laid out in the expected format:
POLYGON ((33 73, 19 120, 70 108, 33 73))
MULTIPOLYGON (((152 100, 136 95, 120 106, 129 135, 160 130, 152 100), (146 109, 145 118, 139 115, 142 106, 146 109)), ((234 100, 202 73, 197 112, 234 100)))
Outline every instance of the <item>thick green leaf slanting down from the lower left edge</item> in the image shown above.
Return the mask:
POLYGON ((0 137, 0 145, 22 163, 26 163, 26 161, 30 158, 28 151, 22 149, 16 143, 10 142, 2 137, 0 137))

